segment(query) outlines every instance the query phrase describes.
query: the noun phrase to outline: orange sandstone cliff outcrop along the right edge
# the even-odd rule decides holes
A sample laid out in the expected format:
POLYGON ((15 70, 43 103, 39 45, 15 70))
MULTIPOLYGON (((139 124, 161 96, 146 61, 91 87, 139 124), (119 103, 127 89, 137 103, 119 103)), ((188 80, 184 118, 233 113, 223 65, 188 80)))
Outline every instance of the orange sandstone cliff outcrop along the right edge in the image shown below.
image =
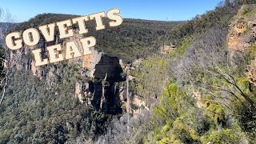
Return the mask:
MULTIPOLYGON (((244 5, 230 22, 227 37, 228 48, 233 55, 235 52, 246 53, 254 48, 256 42, 256 5, 244 5)), ((250 82, 256 86, 256 60, 252 60, 247 68, 250 82)))

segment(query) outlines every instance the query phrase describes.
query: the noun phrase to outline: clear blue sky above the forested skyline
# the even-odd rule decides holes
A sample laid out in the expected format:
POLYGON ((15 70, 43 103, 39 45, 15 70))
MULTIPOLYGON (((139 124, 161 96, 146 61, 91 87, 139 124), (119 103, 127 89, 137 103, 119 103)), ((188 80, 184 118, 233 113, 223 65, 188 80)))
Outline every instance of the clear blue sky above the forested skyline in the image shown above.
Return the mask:
POLYGON ((123 18, 189 20, 206 10, 214 10, 222 0, 0 0, 0 7, 25 22, 37 14, 94 14, 120 8, 123 18))

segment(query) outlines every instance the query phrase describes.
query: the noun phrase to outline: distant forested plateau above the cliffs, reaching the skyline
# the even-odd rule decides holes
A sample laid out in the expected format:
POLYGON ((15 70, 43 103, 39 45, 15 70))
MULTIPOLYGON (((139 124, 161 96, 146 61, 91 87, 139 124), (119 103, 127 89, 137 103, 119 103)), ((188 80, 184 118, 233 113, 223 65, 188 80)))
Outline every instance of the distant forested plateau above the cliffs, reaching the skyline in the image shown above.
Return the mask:
MULTIPOLYGON (((27 28, 42 26, 58 22, 78 15, 70 14, 38 14, 28 22, 19 23, 14 30, 26 30, 27 28)), ((110 56, 122 58, 125 62, 133 62, 137 58, 146 58, 158 51, 158 43, 155 40, 182 22, 160 22, 139 19, 124 19, 121 26, 110 27, 108 19, 103 19, 106 30, 96 31, 94 21, 86 22, 88 35, 97 39, 96 49, 110 56)), ((74 25, 74 28, 77 28, 74 25)))

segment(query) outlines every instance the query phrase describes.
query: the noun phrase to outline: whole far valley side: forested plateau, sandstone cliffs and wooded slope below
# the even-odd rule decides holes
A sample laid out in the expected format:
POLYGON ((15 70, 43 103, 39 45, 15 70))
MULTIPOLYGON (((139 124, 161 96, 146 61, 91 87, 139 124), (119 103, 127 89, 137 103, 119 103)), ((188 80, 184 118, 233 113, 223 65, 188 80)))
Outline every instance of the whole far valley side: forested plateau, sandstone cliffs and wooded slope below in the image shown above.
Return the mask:
MULTIPOLYGON (((39 14, 11 31, 74 17, 39 14)), ((96 32, 94 23, 89 22, 88 35, 77 34, 74 27, 71 38, 60 39, 55 34, 54 42, 41 38, 37 46, 6 50, 5 67, 12 71, 0 110, 0 143, 63 143, 103 134, 113 118, 126 113, 126 63, 158 52, 157 38, 178 23, 124 19, 121 26, 96 32), (64 48, 66 42, 79 43, 89 35, 97 39, 93 54, 35 66, 31 50, 41 49, 42 58, 47 58, 46 46, 61 44, 64 48)), ((130 95, 131 109, 145 105, 139 96, 130 95)))

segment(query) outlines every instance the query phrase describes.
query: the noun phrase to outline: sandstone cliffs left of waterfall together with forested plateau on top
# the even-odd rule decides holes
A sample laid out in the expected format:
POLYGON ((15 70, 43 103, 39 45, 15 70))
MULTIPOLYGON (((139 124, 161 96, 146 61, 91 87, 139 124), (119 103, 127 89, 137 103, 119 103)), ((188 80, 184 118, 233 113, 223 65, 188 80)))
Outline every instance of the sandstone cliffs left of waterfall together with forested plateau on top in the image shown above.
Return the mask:
MULTIPOLYGON (((37 27, 74 17, 67 14, 39 14, 28 22, 18 24, 14 30, 22 32, 30 26, 37 27)), ((147 54, 157 52, 158 49, 154 48, 158 47, 156 38, 178 23, 180 22, 125 19, 120 27, 106 27, 106 30, 96 32, 93 30, 94 23, 89 22, 88 35, 93 35, 97 39, 93 54, 46 66, 35 66, 31 53, 34 49, 42 50, 42 58, 48 57, 46 46, 61 44, 65 50, 66 42, 74 41, 78 43, 78 48, 82 49, 79 39, 86 37, 87 34, 78 34, 74 26, 73 37, 60 39, 58 34, 55 34, 54 42, 45 42, 41 37, 36 46, 23 45, 19 50, 6 50, 6 68, 12 67, 14 72, 31 72, 34 77, 46 82, 46 90, 50 90, 52 86, 59 86, 68 74, 70 78, 74 78, 74 92, 70 97, 78 98, 80 103, 96 110, 120 114, 126 110, 124 62, 132 62, 142 55, 145 57, 147 54), (69 69, 70 71, 67 71, 69 69)))

